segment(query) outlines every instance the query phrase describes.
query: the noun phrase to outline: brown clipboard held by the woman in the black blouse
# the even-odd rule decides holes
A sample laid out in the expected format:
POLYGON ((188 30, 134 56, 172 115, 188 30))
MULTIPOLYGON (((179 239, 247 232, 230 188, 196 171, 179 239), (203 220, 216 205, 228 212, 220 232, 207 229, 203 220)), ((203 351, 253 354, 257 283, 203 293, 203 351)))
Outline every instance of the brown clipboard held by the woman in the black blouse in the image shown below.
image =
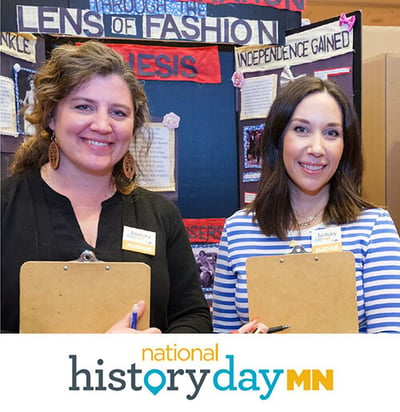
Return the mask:
POLYGON ((26 262, 20 270, 21 333, 104 333, 144 300, 149 327, 150 267, 141 262, 26 262))

